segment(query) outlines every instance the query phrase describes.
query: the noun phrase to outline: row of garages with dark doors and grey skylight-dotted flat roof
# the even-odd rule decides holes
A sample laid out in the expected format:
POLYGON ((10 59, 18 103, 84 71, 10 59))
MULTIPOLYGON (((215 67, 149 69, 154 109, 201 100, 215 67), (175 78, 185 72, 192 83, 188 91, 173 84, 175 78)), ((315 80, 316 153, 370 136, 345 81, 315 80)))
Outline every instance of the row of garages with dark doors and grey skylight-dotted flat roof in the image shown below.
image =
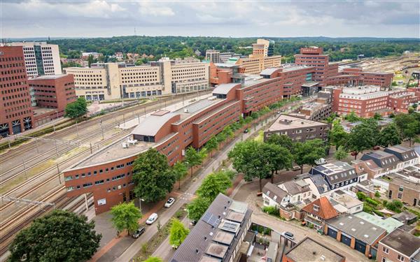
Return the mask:
POLYGON ((385 237, 386 230, 353 214, 345 214, 328 219, 324 233, 367 257, 375 257, 375 245, 385 237))

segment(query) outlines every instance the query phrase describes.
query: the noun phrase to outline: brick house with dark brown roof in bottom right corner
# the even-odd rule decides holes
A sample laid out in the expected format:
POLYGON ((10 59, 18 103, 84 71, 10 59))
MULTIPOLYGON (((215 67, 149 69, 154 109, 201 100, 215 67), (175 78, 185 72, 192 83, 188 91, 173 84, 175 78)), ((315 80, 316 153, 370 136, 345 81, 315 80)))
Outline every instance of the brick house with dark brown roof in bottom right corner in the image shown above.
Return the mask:
POLYGON ((419 262, 420 238, 395 229, 379 241, 378 262, 419 262))

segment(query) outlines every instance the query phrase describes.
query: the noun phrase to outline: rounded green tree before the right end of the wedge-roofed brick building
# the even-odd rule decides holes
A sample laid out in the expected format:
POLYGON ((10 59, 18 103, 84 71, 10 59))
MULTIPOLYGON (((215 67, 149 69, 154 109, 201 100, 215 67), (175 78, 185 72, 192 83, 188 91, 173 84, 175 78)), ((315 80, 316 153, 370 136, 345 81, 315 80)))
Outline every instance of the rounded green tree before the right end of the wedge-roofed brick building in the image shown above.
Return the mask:
POLYGON ((307 140, 304 143, 296 143, 294 159, 295 163, 300 166, 300 173, 303 173, 304 164, 313 166, 316 159, 325 157, 325 151, 325 145, 321 139, 307 140))

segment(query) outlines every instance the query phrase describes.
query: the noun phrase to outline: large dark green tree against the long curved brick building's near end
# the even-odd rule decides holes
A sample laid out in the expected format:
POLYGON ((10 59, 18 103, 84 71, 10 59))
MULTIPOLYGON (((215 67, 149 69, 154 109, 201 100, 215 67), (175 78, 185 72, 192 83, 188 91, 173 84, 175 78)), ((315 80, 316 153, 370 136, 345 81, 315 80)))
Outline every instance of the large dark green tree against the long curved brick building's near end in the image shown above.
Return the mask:
POLYGON ((146 202, 160 201, 172 191, 176 177, 169 170, 167 157, 155 148, 139 154, 134 161, 134 192, 146 202))

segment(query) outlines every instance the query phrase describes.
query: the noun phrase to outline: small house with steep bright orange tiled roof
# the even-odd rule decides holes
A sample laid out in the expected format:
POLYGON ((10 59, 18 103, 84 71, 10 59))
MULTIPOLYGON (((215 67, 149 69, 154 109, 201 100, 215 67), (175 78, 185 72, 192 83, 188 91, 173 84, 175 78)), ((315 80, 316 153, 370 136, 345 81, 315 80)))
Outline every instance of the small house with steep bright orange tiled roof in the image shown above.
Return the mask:
POLYGON ((325 226, 325 221, 338 216, 337 210, 331 205, 328 198, 325 196, 316 199, 316 201, 309 203, 309 205, 302 208, 304 214, 304 221, 307 226, 314 226, 317 230, 322 230, 325 226))

